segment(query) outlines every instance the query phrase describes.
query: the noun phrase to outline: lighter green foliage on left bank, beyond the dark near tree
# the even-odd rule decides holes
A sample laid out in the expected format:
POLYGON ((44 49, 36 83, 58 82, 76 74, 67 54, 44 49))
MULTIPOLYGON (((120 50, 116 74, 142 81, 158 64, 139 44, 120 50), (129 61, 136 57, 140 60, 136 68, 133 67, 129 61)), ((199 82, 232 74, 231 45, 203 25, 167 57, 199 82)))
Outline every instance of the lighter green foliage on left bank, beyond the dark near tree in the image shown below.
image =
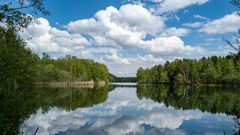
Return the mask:
POLYGON ((104 64, 92 60, 66 56, 65 58, 51 59, 44 53, 36 65, 36 82, 61 81, 108 81, 109 72, 104 64))

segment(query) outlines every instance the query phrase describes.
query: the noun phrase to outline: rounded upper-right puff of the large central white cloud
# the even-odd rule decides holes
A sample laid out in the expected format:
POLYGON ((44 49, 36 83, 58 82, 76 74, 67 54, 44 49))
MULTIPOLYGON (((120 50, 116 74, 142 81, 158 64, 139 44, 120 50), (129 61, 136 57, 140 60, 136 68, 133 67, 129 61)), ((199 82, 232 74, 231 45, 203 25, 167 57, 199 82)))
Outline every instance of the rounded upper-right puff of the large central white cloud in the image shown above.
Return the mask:
POLYGON ((123 5, 119 13, 113 16, 123 27, 130 27, 132 31, 143 31, 155 34, 164 28, 164 20, 161 16, 153 15, 141 5, 123 5))

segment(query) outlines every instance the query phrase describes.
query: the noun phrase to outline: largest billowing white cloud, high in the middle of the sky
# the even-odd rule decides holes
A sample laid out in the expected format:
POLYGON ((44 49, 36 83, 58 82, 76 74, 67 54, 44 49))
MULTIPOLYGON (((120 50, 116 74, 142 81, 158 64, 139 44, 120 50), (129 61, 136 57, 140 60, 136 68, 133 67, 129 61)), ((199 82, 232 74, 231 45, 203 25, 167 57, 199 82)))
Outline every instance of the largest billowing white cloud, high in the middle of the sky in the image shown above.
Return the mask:
POLYGON ((164 28, 164 20, 141 5, 127 4, 116 9, 107 7, 95 18, 70 22, 66 28, 75 33, 89 34, 96 44, 137 47, 146 34, 157 34, 164 28), (144 23, 143 23, 144 22, 144 23))

